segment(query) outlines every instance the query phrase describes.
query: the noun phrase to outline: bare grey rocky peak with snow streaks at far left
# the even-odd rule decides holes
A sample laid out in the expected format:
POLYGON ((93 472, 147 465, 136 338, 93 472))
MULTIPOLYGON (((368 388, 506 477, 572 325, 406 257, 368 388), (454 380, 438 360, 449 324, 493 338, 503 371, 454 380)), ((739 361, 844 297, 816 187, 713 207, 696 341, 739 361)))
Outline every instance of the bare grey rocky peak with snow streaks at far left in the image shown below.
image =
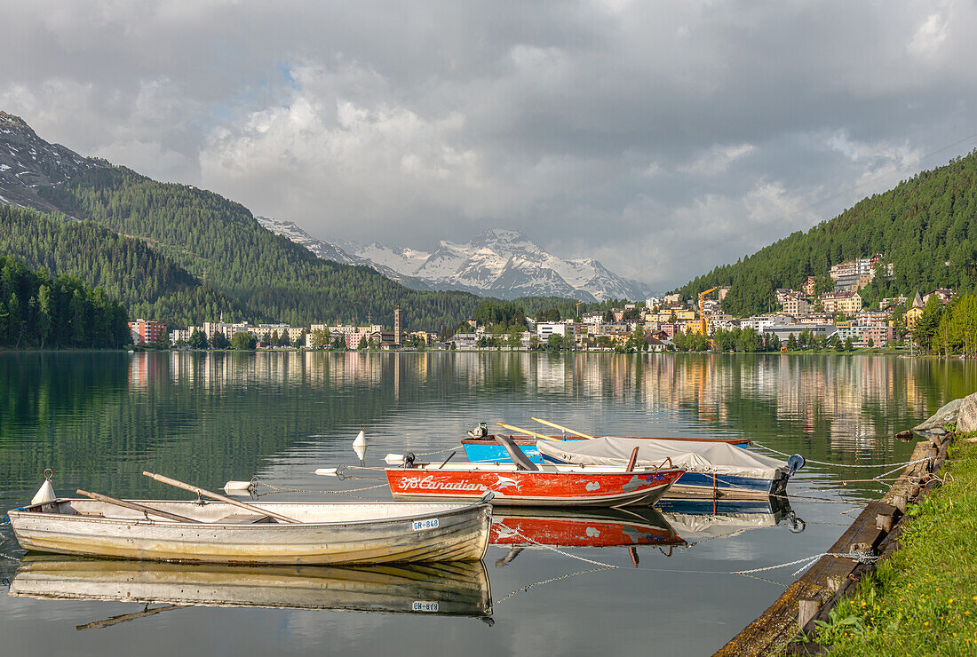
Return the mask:
POLYGON ((46 209, 37 189, 61 185, 99 165, 61 144, 48 144, 20 116, 0 111, 0 204, 46 209))

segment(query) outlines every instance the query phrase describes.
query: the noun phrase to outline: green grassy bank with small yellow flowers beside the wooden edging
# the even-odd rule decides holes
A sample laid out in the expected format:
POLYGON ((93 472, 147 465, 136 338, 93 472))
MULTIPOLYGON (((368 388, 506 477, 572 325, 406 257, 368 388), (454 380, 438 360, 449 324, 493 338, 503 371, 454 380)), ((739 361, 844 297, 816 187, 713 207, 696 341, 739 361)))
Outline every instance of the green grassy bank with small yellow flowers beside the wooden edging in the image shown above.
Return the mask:
POLYGON ((819 629, 829 654, 977 655, 977 444, 958 438, 940 476, 908 511, 902 549, 819 629))

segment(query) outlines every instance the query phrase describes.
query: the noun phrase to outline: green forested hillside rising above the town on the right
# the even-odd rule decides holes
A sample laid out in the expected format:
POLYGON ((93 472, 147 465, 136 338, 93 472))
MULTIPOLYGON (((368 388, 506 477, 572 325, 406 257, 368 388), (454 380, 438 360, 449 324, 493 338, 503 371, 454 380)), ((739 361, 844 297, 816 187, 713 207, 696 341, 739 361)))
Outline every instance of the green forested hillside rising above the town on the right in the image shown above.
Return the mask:
POLYGON ((875 194, 834 219, 795 232, 735 265, 716 267, 678 291, 694 298, 731 286, 723 310, 744 316, 776 308, 774 290, 799 288, 832 265, 883 254, 891 278, 876 275, 866 303, 937 287, 977 289, 977 151, 875 194))

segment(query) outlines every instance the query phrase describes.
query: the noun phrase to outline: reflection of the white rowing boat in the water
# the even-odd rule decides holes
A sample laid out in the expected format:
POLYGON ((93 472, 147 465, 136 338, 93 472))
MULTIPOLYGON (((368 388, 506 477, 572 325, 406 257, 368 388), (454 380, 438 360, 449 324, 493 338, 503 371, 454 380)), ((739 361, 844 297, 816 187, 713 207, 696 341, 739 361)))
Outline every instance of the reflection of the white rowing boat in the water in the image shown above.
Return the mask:
MULTIPOLYGON (((31 554, 21 560, 10 595, 176 606, 418 613, 487 620, 492 611, 488 573, 482 561, 358 567, 245 566, 31 554)), ((149 609, 137 615, 158 611, 149 609)), ((106 624, 113 623, 90 626, 106 624)))

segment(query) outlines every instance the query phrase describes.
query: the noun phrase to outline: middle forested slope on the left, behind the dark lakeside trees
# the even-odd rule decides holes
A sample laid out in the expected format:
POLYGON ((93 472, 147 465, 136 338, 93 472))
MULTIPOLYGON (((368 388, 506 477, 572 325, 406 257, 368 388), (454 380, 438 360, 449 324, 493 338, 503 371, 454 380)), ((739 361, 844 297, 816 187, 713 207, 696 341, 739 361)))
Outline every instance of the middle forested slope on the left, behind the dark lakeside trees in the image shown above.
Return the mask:
POLYGON ((199 324, 216 318, 261 319, 234 299, 201 285, 186 269, 134 237, 124 237, 91 222, 0 206, 0 253, 51 275, 71 274, 91 288, 121 301, 133 317, 171 325, 199 324))

